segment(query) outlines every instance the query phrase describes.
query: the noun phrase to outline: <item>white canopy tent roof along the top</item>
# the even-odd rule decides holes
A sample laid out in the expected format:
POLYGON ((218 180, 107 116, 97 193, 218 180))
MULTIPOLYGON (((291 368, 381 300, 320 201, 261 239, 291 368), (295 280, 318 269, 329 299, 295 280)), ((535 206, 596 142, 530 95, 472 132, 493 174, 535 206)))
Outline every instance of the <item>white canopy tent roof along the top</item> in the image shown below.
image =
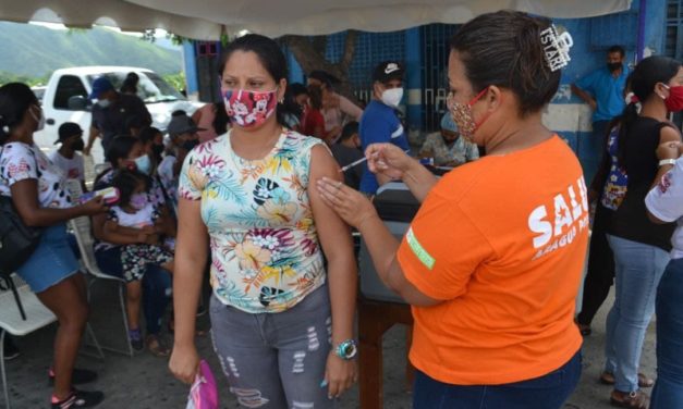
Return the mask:
POLYGON ((183 37, 218 39, 242 30, 271 37, 321 35, 349 28, 391 32, 428 23, 464 23, 512 9, 557 18, 627 10, 631 0, 3 0, 0 20, 123 30, 163 28, 183 37))

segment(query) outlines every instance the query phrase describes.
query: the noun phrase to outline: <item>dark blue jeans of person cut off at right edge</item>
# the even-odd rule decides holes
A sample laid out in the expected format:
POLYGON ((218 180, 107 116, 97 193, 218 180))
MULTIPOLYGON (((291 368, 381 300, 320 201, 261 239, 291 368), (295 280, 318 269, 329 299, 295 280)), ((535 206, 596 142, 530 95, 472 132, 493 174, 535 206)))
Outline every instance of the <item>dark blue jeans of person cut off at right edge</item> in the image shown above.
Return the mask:
POLYGON ((683 408, 683 259, 667 265, 656 309, 657 383, 650 409, 683 408))

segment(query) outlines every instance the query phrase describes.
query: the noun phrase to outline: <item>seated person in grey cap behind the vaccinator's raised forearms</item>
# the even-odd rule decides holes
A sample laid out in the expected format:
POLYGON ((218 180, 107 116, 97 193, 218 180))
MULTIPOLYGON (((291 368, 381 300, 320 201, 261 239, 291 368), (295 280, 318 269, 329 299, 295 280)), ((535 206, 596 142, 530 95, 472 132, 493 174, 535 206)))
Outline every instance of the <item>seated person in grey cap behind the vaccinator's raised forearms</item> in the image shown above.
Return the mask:
POLYGON ((434 158, 436 166, 455 168, 479 159, 479 150, 475 144, 460 137, 453 116, 447 112, 441 119, 441 132, 427 135, 419 156, 434 158))

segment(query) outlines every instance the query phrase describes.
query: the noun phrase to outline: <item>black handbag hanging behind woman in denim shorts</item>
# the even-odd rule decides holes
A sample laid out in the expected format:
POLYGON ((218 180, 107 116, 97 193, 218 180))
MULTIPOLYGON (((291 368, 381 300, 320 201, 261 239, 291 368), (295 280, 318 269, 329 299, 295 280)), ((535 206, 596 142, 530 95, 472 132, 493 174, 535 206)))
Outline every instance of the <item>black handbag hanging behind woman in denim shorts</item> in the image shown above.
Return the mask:
POLYGON ((9 276, 26 262, 38 247, 41 233, 42 228, 24 224, 11 197, 0 196, 0 274, 9 276))

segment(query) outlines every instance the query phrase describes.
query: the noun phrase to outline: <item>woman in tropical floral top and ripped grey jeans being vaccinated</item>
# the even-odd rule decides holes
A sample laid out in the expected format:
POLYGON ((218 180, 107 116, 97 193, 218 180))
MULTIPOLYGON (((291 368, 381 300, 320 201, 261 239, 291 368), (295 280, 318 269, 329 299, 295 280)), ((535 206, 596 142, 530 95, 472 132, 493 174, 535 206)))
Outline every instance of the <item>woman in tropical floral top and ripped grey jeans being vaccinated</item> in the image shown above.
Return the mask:
POLYGON ((276 41, 235 39, 219 75, 232 128, 197 146, 181 172, 170 369, 195 379, 210 248, 214 346, 240 405, 332 407, 356 377, 357 275, 349 227, 310 184, 341 183, 339 168, 321 140, 283 128, 276 41))

